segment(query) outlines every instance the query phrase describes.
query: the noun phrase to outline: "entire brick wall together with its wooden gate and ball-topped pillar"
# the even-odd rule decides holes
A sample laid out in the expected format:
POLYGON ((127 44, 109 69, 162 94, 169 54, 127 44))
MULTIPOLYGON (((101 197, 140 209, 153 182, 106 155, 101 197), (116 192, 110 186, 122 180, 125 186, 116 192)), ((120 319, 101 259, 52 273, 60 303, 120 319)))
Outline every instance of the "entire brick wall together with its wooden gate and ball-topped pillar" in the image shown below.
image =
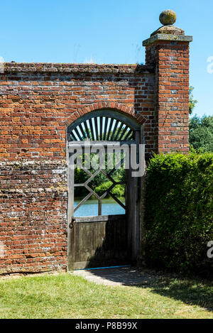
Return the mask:
POLYGON ((119 146, 127 165, 129 146, 189 149, 192 37, 163 20, 145 65, 1 63, 0 274, 143 262, 143 177, 119 146))

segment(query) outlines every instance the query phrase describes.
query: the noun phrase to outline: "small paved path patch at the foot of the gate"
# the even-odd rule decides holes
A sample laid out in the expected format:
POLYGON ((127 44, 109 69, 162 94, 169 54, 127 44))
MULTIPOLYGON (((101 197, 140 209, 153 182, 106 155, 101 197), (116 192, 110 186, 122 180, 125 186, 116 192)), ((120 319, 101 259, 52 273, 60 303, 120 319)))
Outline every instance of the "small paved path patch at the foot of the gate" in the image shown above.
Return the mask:
POLYGON ((134 267, 80 270, 72 274, 104 285, 137 285, 153 279, 152 275, 144 273, 141 268, 134 267))

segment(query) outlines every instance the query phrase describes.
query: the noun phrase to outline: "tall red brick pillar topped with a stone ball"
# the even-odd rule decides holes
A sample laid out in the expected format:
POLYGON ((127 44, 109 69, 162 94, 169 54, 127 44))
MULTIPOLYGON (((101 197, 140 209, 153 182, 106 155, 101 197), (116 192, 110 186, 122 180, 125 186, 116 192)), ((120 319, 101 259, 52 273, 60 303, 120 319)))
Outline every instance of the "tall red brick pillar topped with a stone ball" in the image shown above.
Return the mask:
POLYGON ((175 13, 160 14, 163 26, 143 41, 146 65, 155 67, 155 153, 189 150, 189 43, 173 26, 175 13))

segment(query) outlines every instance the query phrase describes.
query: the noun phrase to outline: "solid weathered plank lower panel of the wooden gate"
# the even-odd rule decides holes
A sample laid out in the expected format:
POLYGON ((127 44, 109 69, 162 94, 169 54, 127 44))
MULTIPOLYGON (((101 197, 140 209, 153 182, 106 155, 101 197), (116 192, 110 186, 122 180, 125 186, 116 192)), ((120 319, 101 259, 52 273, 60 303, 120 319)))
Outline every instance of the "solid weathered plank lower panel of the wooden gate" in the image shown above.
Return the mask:
POLYGON ((76 218, 72 229, 74 269, 131 263, 125 214, 102 217, 102 221, 80 221, 76 218))

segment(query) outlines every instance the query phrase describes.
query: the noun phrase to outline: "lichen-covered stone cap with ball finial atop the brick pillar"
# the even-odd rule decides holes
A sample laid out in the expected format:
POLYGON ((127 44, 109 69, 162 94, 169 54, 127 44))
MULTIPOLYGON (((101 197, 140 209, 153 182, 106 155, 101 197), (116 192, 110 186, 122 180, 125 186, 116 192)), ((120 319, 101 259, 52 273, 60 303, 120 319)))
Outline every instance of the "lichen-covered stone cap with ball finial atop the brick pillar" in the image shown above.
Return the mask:
POLYGON ((184 30, 177 26, 173 26, 176 21, 176 14, 174 11, 171 11, 170 9, 162 11, 159 19, 163 26, 151 33, 150 38, 143 40, 143 46, 148 46, 156 40, 192 42, 192 36, 185 36, 184 30))

